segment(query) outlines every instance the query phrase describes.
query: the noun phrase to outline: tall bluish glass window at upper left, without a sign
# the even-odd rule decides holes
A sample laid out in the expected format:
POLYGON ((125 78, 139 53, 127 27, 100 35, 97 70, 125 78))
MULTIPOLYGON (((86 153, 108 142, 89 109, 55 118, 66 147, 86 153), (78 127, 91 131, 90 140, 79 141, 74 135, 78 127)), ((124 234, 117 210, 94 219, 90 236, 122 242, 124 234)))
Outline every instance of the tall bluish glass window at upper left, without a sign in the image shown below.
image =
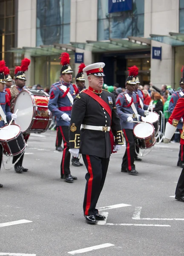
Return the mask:
POLYGON ((37 0, 37 46, 69 44, 70 0, 37 0))

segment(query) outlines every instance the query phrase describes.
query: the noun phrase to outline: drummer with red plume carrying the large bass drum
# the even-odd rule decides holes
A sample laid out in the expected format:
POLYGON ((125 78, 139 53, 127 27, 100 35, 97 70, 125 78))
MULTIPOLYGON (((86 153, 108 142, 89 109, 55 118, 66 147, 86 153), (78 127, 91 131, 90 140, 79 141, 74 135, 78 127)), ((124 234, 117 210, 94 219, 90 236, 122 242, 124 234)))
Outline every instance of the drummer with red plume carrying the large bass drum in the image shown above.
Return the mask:
MULTIPOLYGON (((15 68, 15 77, 14 77, 14 80, 15 80, 15 85, 11 88, 7 88, 6 89, 6 92, 8 93, 9 95, 9 100, 10 100, 10 110, 11 112, 13 111, 13 108, 14 108, 14 102, 15 102, 15 99, 17 97, 17 95, 22 91, 24 90, 24 87, 25 87, 25 84, 26 84, 26 76, 25 76, 25 72, 28 70, 28 67, 29 67, 29 64, 30 64, 30 60, 28 58, 24 58, 22 61, 21 61, 21 66, 20 67, 16 67, 15 68)), ((24 137, 24 140, 27 142, 28 139, 29 139, 29 136, 30 134, 29 133, 23 133, 23 137, 24 137)), ((18 154, 17 156, 14 156, 13 157, 13 161, 12 163, 15 163, 18 158, 20 158, 18 160, 18 162, 14 165, 14 170, 15 172, 17 173, 22 173, 22 172, 27 172, 28 169, 27 168, 24 168, 22 166, 22 163, 23 163, 23 157, 24 157, 24 153, 18 154), (21 157, 20 157, 21 156, 21 157)))

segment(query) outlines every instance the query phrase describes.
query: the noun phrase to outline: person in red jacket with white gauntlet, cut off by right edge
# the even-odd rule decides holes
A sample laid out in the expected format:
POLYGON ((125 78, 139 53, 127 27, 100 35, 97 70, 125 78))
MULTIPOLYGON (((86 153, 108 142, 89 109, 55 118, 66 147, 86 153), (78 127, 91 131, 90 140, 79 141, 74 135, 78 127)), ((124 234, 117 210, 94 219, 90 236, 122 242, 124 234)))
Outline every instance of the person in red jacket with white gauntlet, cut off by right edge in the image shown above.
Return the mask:
MULTIPOLYGON (((164 134, 164 143, 169 143, 172 139, 177 126, 180 122, 180 120, 184 119, 184 96, 181 96, 180 99, 178 99, 175 108, 166 123, 165 128, 165 134, 164 134)), ((181 140, 180 140, 181 146, 184 146, 184 122, 183 122, 183 128, 181 131, 181 140)), ((178 201, 181 201, 184 203, 184 168, 181 171, 181 175, 178 180, 178 184, 176 186, 175 190, 175 199, 178 201)))

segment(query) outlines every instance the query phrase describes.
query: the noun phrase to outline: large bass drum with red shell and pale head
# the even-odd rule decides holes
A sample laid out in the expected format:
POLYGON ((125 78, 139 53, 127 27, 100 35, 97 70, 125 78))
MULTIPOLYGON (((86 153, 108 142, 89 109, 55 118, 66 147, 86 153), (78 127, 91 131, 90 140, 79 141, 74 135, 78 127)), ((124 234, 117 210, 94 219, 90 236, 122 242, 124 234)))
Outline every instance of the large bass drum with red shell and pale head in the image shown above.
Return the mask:
POLYGON ((15 124, 22 132, 44 132, 52 122, 52 113, 48 109, 49 94, 44 91, 22 90, 16 97, 14 113, 17 111, 15 124))

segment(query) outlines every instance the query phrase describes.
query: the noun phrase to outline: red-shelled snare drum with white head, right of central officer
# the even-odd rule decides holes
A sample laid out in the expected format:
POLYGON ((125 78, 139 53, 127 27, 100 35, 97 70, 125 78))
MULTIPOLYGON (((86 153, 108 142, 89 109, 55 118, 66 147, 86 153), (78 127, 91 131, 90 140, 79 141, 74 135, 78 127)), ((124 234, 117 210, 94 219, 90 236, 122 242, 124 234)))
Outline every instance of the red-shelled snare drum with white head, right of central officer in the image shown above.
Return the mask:
POLYGON ((155 128, 152 124, 138 123, 133 129, 135 144, 142 149, 151 148, 155 142, 155 128))

